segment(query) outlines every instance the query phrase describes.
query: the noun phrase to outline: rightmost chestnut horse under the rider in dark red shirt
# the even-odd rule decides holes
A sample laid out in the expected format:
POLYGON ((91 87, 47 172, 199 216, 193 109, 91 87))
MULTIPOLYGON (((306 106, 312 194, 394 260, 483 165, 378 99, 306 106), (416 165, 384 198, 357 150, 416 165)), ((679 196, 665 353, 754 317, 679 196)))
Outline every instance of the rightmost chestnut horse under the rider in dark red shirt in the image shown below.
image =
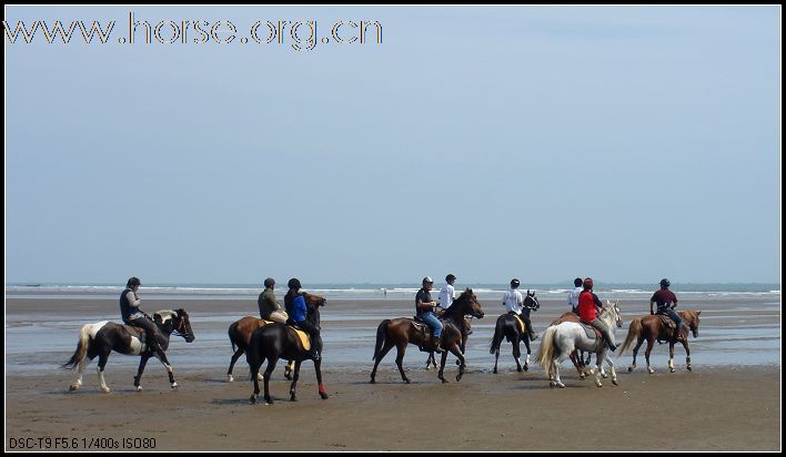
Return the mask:
MULTIPOLYGON (((678 311, 677 313, 679 313, 679 317, 682 317, 688 328, 691 328, 693 337, 697 337, 699 322, 698 316, 702 314, 702 312, 685 309, 678 311)), ((668 342, 668 369, 671 373, 674 373, 674 344, 677 342, 677 339, 674 335, 674 332, 663 325, 663 321, 661 321, 659 316, 649 315, 633 319, 631 322, 631 327, 627 331, 627 337, 625 338, 625 343, 623 343, 619 347, 619 354, 627 351, 627 348, 631 347, 631 345, 633 344, 634 339, 636 339, 636 346, 633 348, 633 365, 627 367, 628 373, 632 373, 636 368, 636 354, 638 354, 638 348, 642 346, 642 343, 644 343, 645 339, 647 341, 647 348, 646 351, 644 351, 644 358, 646 358, 647 360, 647 372, 649 372, 651 375, 655 373, 655 370, 649 365, 649 353, 653 351, 655 339, 665 339, 668 342)), ((688 346, 687 335, 685 339, 681 341, 679 343, 682 343, 683 347, 685 348, 685 362, 687 363, 688 372, 691 372, 693 370, 693 367, 691 366, 691 347, 688 346)))

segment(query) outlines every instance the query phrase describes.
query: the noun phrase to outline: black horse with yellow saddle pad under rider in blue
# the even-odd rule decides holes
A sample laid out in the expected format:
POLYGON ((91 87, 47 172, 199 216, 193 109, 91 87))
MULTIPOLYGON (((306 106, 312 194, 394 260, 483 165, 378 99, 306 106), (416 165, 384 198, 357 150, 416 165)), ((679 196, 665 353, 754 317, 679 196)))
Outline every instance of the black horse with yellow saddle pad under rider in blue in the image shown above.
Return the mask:
MULTIPOLYGON (((304 293, 305 295, 305 293, 304 293)), ((312 295, 305 301, 305 318, 316 328, 320 328, 320 306, 325 305, 325 298, 312 295), (314 298, 315 297, 315 298, 314 298)), ((316 348, 318 354, 322 354, 322 338, 310 342, 316 348)), ((248 348, 245 351, 245 360, 249 363, 251 377, 254 380, 254 392, 251 394, 250 403, 253 405, 259 399, 260 394, 260 367, 262 363, 268 360, 268 367, 262 375, 264 379, 264 402, 268 405, 273 404, 273 398, 270 396, 270 376, 275 369, 275 364, 280 358, 294 362, 294 372, 292 376, 292 385, 290 386, 290 399, 296 402, 298 378, 300 377, 300 365, 308 357, 308 349, 303 347, 298 333, 292 326, 274 322, 256 328, 251 334, 248 348)), ((318 358, 314 362, 316 370, 316 382, 319 393, 322 399, 328 399, 328 393, 322 385, 322 359, 318 358)))

